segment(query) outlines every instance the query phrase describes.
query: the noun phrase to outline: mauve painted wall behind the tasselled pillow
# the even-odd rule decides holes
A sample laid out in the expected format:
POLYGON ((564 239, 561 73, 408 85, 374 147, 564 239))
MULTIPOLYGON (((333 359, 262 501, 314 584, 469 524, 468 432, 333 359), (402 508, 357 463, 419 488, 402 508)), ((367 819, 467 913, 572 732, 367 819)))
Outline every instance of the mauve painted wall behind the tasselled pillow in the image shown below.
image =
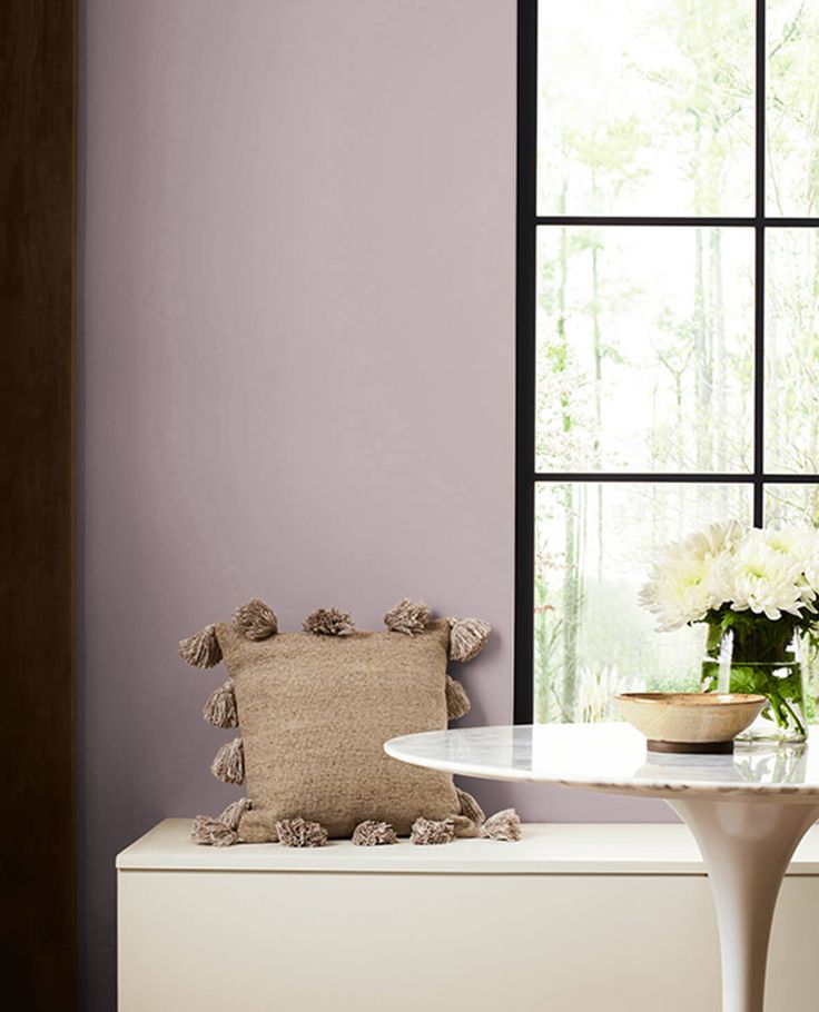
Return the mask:
MULTIPOLYGON (((258 594, 496 629, 511 716, 514 0, 87 0, 79 795, 85 1008, 114 1008, 118 850, 216 812, 218 672, 258 594)), ((480 784, 527 818, 662 817, 480 784)))

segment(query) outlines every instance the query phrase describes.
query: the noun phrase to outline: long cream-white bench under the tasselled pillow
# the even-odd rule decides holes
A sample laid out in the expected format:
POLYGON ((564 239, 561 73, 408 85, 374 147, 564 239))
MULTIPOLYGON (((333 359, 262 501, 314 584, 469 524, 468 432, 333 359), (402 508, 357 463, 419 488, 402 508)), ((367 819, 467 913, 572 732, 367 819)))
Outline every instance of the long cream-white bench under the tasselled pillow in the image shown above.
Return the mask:
MULTIPOLYGON (((190 842, 117 859, 119 1012, 717 1012, 719 945, 681 825, 524 826, 520 843, 190 842)), ((819 1009, 819 827, 773 924, 766 1012, 819 1009)))

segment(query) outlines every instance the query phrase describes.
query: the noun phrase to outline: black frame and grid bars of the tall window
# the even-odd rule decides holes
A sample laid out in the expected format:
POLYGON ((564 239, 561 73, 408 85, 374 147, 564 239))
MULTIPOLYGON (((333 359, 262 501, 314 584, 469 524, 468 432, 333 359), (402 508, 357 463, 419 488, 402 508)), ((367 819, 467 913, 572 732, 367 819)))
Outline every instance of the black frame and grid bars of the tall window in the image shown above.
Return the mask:
POLYGON ((515 478, 515 724, 534 717, 534 525, 540 483, 623 484, 663 482, 753 486, 753 524, 762 526, 764 487, 816 485, 819 474, 774 474, 764 469, 764 236, 769 228, 819 228, 819 218, 766 215, 766 17, 767 0, 756 0, 754 214, 750 217, 613 217, 537 215, 537 7, 517 0, 517 244, 516 244, 516 478, 515 478), (535 469, 535 290, 536 237, 542 226, 658 226, 747 228, 754 236, 753 292, 753 470, 714 473, 578 473, 535 469))

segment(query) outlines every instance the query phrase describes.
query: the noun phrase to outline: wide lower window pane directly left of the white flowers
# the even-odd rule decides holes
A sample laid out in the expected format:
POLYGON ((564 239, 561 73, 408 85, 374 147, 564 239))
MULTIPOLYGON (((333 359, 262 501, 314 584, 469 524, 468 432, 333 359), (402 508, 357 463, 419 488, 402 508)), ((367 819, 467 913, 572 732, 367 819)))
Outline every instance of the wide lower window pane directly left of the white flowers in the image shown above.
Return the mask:
POLYGON ((659 548, 750 523, 751 499, 748 485, 539 484, 535 721, 606 720, 615 692, 697 686, 704 631, 654 632, 638 591, 659 548))

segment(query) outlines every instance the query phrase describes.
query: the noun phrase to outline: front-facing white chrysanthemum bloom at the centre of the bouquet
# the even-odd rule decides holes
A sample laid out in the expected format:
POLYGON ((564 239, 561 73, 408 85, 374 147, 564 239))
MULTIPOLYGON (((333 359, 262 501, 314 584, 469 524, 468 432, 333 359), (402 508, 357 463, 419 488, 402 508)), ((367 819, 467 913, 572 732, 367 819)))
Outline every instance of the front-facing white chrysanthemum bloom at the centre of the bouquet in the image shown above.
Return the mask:
POLYGON ((731 607, 738 612, 750 608, 776 622, 782 612, 801 614, 806 586, 803 562, 772 547, 769 537, 764 530, 750 530, 736 549, 731 607))

